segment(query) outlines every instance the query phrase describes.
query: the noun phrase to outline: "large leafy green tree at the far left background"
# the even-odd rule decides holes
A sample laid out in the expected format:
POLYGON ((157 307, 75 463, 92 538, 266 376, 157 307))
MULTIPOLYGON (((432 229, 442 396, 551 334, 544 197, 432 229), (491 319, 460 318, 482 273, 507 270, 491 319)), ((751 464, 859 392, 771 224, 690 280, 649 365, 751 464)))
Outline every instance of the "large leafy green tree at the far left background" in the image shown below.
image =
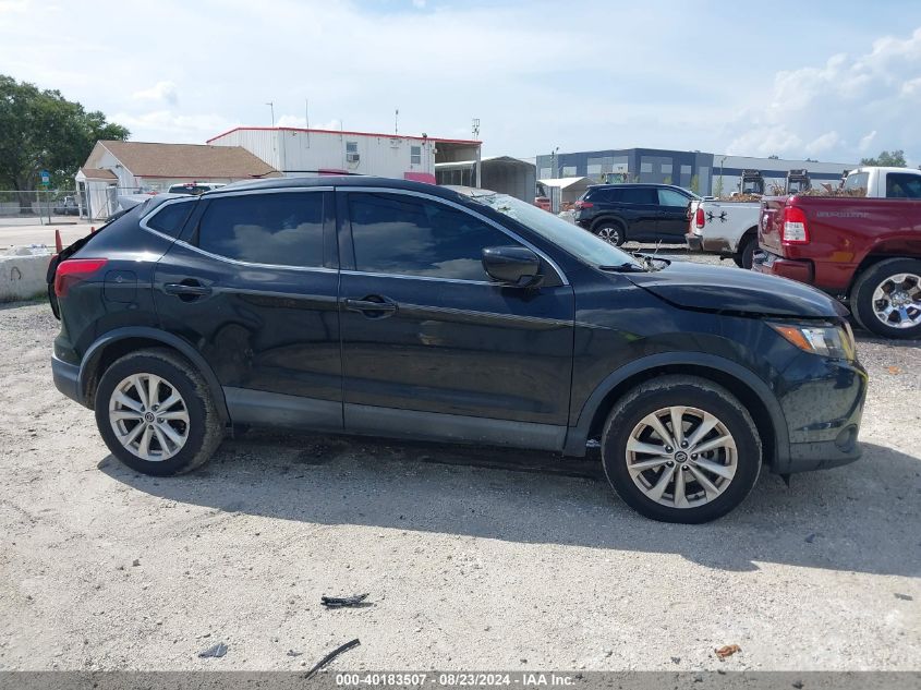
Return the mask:
POLYGON ((0 189, 34 190, 43 169, 51 173, 51 186, 72 186, 98 140, 126 140, 129 134, 58 90, 0 74, 0 189))

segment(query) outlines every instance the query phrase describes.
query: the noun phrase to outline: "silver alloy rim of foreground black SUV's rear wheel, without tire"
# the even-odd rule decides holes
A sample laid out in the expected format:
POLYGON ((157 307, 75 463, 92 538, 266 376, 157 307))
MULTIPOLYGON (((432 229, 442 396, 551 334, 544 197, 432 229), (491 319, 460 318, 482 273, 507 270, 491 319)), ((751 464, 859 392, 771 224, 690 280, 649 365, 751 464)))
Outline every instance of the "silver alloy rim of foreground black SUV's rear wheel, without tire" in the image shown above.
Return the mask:
POLYGON ((175 386, 155 374, 123 378, 109 398, 116 438, 150 462, 173 457, 189 439, 189 409, 175 386))

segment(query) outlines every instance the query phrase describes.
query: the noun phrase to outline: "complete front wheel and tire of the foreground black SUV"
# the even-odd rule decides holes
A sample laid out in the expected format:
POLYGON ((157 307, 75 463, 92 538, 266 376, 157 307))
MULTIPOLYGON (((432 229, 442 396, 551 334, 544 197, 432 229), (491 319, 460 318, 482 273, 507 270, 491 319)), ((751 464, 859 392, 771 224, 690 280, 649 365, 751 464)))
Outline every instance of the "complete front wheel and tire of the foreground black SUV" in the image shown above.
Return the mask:
POLYGON ((638 386, 615 404, 602 437, 602 464, 614 491, 637 512, 662 522, 699 524, 725 516, 751 492, 761 460, 761 438, 742 403, 722 386, 695 376, 663 376, 638 386), (670 434, 669 408, 686 408, 679 413, 684 440, 694 441, 691 446, 672 446, 670 437, 663 443, 655 424, 647 423, 655 416, 663 432, 670 434), (715 425, 694 439, 695 431, 712 417, 715 425), (717 443, 727 435, 728 443, 706 449, 703 457, 693 455, 695 446, 717 443), (639 444, 644 449, 662 449, 662 457, 639 450, 639 444), (666 448, 671 450, 666 453, 666 448), (628 468, 635 462, 659 464, 635 472, 634 480, 628 468), (677 486, 680 474, 683 501, 677 486), (706 488, 701 476, 710 483, 706 488), (650 494, 657 488, 662 491, 655 498, 650 494))

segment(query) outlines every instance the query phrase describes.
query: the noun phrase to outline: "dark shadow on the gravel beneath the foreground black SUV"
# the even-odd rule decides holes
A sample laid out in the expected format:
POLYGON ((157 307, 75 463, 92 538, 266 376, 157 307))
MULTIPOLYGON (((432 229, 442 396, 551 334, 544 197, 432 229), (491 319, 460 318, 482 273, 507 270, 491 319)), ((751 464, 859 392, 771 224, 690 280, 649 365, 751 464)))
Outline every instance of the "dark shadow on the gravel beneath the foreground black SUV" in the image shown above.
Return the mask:
POLYGON ((99 468, 136 491, 228 512, 627 552, 718 570, 759 564, 921 576, 921 459, 864 444, 863 458, 792 477, 763 473, 746 501, 703 525, 646 520, 597 459, 372 438, 252 433, 177 477, 99 468))

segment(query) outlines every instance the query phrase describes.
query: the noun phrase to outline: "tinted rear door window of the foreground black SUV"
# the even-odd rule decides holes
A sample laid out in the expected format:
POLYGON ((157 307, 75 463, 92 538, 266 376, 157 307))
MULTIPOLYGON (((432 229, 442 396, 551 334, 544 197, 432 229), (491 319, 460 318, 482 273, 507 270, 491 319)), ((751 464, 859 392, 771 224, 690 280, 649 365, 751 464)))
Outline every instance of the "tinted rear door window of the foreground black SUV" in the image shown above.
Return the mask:
POLYGON ((254 264, 323 266, 322 192, 243 194, 210 201, 198 246, 254 264))

